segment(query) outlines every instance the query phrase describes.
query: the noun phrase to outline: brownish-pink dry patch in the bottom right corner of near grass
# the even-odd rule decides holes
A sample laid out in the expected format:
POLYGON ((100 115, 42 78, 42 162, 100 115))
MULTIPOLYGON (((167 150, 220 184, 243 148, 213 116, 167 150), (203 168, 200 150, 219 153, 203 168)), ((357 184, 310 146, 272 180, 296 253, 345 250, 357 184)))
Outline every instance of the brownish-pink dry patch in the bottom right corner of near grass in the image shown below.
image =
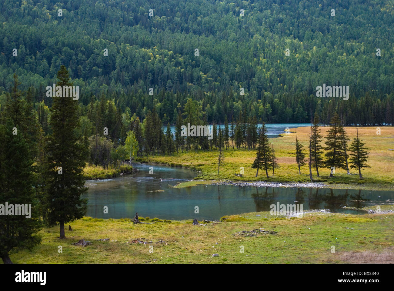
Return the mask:
POLYGON ((387 248, 383 252, 343 252, 338 254, 341 261, 357 264, 393 264, 394 248, 387 248))

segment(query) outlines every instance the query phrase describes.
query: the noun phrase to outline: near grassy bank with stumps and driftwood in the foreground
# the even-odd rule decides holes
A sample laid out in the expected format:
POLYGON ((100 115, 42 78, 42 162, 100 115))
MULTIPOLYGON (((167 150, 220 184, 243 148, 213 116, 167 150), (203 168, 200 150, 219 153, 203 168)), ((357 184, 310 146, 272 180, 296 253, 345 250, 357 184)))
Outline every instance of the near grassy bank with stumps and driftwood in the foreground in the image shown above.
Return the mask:
POLYGON ((14 263, 393 263, 392 205, 382 205, 386 213, 365 215, 251 212, 199 226, 192 220, 141 218, 152 224, 133 224, 84 217, 71 223, 73 231, 67 227, 66 239, 59 239, 59 226, 43 228, 39 246, 10 257, 14 263), (80 239, 93 243, 72 245, 80 239))

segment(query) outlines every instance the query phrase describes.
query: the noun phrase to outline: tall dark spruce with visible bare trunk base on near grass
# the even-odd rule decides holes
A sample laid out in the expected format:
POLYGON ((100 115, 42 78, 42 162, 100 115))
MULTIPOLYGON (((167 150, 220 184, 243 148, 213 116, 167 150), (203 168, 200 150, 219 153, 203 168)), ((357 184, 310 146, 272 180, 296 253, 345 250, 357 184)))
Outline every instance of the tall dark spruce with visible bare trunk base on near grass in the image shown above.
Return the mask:
MULTIPOLYGON (((65 66, 58 71, 57 86, 72 86, 65 66)), ((54 96, 50 125, 52 135, 46 144, 46 209, 47 224, 60 224, 60 238, 65 238, 64 224, 80 219, 86 211, 87 199, 83 167, 84 146, 75 129, 79 126, 78 103, 72 97, 54 96), (61 167, 61 168, 59 168, 61 167)))

